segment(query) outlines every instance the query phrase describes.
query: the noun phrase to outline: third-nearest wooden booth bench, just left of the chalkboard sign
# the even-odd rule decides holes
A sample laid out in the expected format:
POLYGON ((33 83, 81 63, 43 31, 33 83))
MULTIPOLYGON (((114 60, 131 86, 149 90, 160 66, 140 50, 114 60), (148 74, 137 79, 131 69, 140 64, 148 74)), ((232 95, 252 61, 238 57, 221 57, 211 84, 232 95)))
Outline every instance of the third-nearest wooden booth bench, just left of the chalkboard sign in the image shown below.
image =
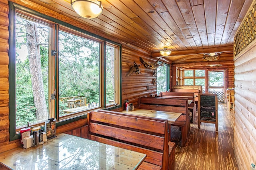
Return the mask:
POLYGON ((188 100, 192 100, 190 104, 188 104, 188 110, 191 113, 190 122, 194 122, 196 115, 196 103, 195 103, 195 94, 190 92, 160 92, 160 97, 164 98, 186 98, 188 100))

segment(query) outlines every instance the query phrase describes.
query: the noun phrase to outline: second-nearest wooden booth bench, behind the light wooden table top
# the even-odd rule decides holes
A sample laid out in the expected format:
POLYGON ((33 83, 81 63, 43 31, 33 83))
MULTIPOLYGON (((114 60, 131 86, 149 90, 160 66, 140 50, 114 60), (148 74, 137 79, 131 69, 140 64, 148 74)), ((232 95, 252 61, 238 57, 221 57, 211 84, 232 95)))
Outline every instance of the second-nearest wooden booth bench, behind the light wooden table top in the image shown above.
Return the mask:
POLYGON ((138 100, 138 108, 159 111, 170 111, 182 113, 175 121, 169 122, 171 125, 181 129, 181 146, 184 147, 190 131, 190 116, 188 115, 188 99, 186 98, 163 98, 163 97, 141 97, 138 100))

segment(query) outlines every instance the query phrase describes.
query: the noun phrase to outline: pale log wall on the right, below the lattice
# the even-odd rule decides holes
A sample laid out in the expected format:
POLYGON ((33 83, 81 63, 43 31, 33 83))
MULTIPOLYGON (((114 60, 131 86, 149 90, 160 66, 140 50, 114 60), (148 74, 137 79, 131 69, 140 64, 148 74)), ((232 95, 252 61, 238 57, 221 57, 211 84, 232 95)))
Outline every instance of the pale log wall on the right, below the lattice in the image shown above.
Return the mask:
POLYGON ((256 164, 256 41, 234 61, 234 152, 239 168, 256 164))

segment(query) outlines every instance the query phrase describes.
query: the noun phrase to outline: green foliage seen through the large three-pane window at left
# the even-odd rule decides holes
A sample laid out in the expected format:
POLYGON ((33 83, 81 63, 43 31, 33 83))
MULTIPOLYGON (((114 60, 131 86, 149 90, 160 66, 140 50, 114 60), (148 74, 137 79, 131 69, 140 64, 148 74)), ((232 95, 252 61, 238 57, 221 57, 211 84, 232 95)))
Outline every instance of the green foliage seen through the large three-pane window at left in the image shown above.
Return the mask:
MULTIPOLYGON (((33 29, 31 29, 33 30, 33 29)), ((26 20, 16 16, 16 127, 26 125, 29 121, 48 119, 48 84, 49 84, 49 30, 48 25, 26 20), (28 26, 26 26, 28 25, 28 26), (29 27, 34 27, 31 37, 28 37, 29 27), (36 52, 32 45, 37 45, 36 52), (32 72, 37 72, 32 64, 32 58, 40 59, 40 71, 36 74, 42 77, 42 83, 32 72), (33 83, 34 81, 34 83, 33 83), (42 85, 40 102, 46 108, 47 117, 41 117, 42 107, 36 105, 33 84, 42 85)), ((114 47, 106 46, 106 102, 114 100, 114 47)), ((86 103, 100 103, 100 43, 59 31, 58 50, 59 98, 82 96, 86 103)), ((40 90, 39 90, 40 91, 40 90)), ((85 104, 86 105, 86 104, 85 104)), ((67 102, 59 101, 60 116, 68 109, 67 102)))

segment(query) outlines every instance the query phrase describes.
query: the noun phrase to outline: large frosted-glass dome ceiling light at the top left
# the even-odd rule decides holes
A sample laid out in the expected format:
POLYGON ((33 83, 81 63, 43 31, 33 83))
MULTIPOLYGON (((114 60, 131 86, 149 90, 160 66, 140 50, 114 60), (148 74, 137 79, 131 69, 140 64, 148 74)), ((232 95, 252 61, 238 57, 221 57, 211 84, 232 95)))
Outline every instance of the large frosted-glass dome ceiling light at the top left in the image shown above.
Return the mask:
POLYGON ((98 0, 70 0, 70 4, 76 13, 83 18, 96 18, 103 11, 101 1, 98 0))

